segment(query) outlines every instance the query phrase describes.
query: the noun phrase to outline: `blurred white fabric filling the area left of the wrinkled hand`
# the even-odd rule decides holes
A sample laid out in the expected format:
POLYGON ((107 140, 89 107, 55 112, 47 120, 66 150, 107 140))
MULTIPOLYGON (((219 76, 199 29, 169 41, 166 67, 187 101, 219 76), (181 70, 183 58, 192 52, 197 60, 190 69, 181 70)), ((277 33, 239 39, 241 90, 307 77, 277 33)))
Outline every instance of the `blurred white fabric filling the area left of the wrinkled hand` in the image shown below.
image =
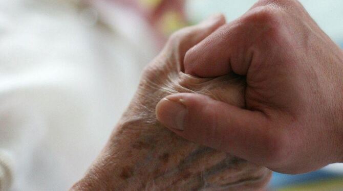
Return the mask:
POLYGON ((146 29, 117 6, 0 1, 3 190, 10 179, 11 190, 67 190, 82 177, 156 54, 146 29))

